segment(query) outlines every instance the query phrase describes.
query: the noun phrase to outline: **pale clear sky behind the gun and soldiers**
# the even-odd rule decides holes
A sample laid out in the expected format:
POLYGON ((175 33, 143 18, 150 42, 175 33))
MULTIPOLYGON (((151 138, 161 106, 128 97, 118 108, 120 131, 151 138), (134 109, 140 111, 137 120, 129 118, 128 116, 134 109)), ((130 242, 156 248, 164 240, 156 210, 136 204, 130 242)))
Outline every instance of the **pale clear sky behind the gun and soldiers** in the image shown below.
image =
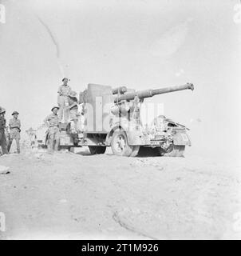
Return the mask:
MULTIPOLYGON (((164 115, 190 128, 192 150, 237 154, 241 23, 237 0, 0 0, 0 106, 41 125, 67 76, 88 83, 195 90, 157 95, 164 115)), ((188 149, 189 151, 191 149, 188 149)))

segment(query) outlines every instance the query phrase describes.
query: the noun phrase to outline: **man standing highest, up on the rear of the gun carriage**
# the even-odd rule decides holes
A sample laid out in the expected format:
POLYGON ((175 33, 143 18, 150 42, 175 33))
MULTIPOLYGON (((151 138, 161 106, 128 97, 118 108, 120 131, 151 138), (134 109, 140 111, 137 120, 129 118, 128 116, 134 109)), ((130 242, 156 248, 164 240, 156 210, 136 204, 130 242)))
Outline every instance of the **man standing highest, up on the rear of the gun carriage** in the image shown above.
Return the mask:
POLYGON ((59 122, 62 121, 63 114, 64 114, 64 121, 68 122, 69 121, 69 110, 67 109, 68 106, 68 95, 71 90, 71 88, 68 86, 68 78, 63 78, 62 82, 63 84, 59 86, 57 93, 57 104, 59 106, 59 111, 58 111, 58 118, 59 122))

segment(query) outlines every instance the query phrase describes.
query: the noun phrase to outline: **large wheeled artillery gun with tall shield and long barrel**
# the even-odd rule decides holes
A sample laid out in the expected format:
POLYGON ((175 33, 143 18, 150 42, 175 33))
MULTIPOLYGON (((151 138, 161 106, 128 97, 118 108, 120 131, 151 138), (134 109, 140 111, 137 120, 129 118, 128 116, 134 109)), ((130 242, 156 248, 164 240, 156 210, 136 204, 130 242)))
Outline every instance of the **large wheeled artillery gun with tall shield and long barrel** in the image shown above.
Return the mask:
POLYGON ((186 126, 160 115, 148 127, 140 118, 144 98, 179 90, 194 90, 194 86, 186 83, 154 90, 130 90, 126 86, 113 89, 91 83, 79 94, 78 103, 83 109, 81 129, 73 132, 71 123, 61 124, 60 146, 88 146, 90 154, 105 154, 110 146, 113 154, 126 157, 135 157, 140 148, 152 147, 160 156, 181 157, 185 147, 191 146, 186 126))

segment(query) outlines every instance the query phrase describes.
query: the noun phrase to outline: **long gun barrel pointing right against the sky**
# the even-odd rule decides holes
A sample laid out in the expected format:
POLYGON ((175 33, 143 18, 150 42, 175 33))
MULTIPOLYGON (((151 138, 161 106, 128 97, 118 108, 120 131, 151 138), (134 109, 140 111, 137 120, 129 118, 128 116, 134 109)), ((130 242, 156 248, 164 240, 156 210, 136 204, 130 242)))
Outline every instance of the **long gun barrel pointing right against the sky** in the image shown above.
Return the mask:
POLYGON ((194 86, 192 83, 186 83, 183 86, 170 86, 170 87, 165 87, 165 88, 160 88, 155 90, 139 90, 133 93, 125 93, 122 95, 118 95, 114 101, 121 102, 122 100, 132 100, 136 96, 138 98, 149 98, 156 94, 168 94, 168 93, 171 93, 172 91, 188 90, 188 89, 194 90, 194 86))

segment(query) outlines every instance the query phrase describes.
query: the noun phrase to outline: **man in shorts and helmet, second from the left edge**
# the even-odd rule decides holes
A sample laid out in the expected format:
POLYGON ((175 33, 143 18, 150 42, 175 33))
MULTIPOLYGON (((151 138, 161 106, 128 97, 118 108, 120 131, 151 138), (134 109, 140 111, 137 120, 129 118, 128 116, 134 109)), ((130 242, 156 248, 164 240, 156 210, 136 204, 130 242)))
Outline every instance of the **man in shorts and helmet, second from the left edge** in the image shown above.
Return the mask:
POLYGON ((14 111, 14 113, 12 114, 12 116, 14 118, 10 119, 10 141, 7 147, 7 150, 10 151, 11 145, 13 140, 16 141, 17 144, 17 152, 18 154, 20 154, 20 132, 21 132, 21 122, 18 119, 18 112, 14 111))

